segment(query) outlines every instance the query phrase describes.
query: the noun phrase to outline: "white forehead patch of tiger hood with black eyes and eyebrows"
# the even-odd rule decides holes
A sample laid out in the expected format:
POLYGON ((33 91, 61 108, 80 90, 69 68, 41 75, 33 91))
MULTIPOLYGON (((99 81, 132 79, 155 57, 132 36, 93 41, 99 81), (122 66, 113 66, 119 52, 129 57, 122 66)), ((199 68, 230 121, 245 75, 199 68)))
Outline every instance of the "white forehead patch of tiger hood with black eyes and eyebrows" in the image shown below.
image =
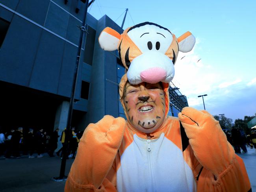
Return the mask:
POLYGON ((173 41, 170 31, 153 24, 136 27, 128 31, 127 35, 142 53, 153 50, 165 54, 173 41))

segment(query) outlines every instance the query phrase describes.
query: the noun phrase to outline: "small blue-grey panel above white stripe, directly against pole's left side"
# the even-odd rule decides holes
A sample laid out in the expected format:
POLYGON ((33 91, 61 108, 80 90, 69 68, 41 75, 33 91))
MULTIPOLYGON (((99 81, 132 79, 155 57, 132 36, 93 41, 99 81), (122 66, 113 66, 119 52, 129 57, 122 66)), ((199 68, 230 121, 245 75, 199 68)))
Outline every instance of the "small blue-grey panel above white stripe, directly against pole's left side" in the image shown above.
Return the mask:
POLYGON ((69 24, 67 28, 66 39, 78 45, 80 38, 80 29, 78 26, 81 26, 82 23, 74 17, 69 17, 69 24))

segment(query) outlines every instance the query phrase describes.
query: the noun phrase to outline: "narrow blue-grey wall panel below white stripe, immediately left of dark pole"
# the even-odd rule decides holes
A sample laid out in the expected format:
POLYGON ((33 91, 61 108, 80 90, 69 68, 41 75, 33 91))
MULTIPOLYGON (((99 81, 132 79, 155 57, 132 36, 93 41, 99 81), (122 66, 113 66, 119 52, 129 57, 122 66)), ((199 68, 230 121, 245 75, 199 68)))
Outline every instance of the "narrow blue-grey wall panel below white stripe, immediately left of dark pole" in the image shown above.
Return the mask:
POLYGON ((77 47, 65 42, 61 72, 59 76, 58 94, 70 97, 76 62, 77 47))

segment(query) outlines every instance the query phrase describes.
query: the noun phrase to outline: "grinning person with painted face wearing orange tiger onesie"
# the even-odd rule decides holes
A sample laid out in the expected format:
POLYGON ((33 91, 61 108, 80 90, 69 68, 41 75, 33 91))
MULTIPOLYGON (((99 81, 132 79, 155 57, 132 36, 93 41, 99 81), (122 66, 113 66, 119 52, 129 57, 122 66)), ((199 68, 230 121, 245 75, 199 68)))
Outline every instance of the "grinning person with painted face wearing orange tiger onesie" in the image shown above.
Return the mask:
POLYGON ((121 35, 106 28, 99 41, 104 50, 118 48, 128 70, 119 84, 127 121, 106 115, 89 124, 66 192, 251 191, 242 159, 211 114, 185 107, 178 118, 167 116, 174 75, 169 65, 178 51, 193 48, 191 33, 177 39, 166 28, 145 22, 121 35))

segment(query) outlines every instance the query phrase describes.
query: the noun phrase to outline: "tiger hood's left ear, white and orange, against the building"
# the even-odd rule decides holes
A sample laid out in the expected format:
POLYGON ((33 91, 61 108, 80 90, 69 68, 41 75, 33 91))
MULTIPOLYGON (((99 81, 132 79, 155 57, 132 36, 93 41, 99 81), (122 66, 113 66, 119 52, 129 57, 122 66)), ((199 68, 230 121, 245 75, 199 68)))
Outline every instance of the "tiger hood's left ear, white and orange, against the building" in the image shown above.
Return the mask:
POLYGON ((117 50, 120 37, 121 35, 117 31, 106 27, 103 31, 101 31, 98 41, 103 50, 114 51, 117 50))

